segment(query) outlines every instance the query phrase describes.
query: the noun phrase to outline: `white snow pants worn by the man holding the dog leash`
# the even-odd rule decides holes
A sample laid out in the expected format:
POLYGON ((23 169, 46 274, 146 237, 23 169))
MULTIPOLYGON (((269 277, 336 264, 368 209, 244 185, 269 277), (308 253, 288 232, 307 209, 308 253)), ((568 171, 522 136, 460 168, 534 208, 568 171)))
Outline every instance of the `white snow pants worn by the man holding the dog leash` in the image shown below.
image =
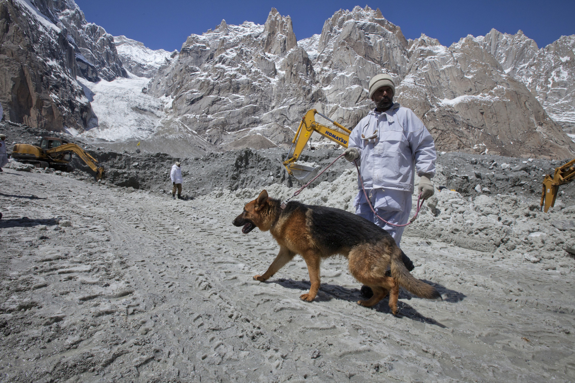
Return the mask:
MULTIPOLYGON (((388 231, 388 233, 392 235, 393 239, 395 239, 397 246, 400 246, 401 235, 403 234, 405 226, 396 227, 382 222, 382 220, 377 218, 373 214, 373 211, 371 211, 365 196, 363 196, 363 191, 360 192, 361 195, 356 197, 356 201, 359 203, 355 206, 355 214, 388 231)), ((367 192, 369 193, 369 191, 367 192)), ((381 218, 388 222, 397 223, 398 225, 403 225, 408 222, 409 213, 411 212, 411 192, 392 191, 389 194, 380 192, 377 197, 378 198, 374 198, 373 203, 374 206, 377 206, 375 208, 377 215, 381 216, 381 218)))

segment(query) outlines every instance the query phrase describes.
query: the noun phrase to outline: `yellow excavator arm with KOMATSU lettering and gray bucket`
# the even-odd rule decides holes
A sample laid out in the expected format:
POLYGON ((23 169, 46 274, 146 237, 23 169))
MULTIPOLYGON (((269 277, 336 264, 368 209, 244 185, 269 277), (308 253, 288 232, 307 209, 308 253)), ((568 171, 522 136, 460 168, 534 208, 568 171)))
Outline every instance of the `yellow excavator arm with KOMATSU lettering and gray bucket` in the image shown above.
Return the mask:
POLYGON ((308 110, 307 113, 302 117, 300 126, 297 128, 296 136, 292 140, 292 146, 290 146, 287 152, 286 160, 283 161, 283 166, 287 169, 287 173, 292 175, 296 180, 300 181, 302 184, 306 183, 308 180, 312 179, 316 175, 319 167, 310 167, 307 165, 297 164, 298 158, 300 158, 302 150, 305 148, 305 144, 312 138, 312 133, 317 132, 329 140, 336 142, 336 144, 342 145, 347 148, 348 141, 350 138, 351 130, 343 127, 339 123, 325 117, 323 114, 319 113, 316 109, 308 110), (315 115, 319 114, 321 117, 327 119, 338 129, 322 125, 316 122, 315 115), (294 148, 296 144, 296 148, 294 148), (292 152, 293 149, 293 152, 292 152), (291 153, 291 157, 290 157, 291 153), (288 158, 289 157, 289 158, 288 158))

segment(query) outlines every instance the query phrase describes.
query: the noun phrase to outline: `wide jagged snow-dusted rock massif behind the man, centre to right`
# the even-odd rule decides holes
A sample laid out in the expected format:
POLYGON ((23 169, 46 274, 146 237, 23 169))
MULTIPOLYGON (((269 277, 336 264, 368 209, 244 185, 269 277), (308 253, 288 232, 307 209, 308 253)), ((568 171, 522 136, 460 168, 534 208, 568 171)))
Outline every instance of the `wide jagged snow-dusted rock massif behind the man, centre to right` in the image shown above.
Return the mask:
POLYGON ((372 107, 369 79, 387 72, 397 100, 423 119, 440 150, 572 156, 561 126, 484 40, 406 40, 381 11, 355 7, 325 21, 320 36, 296 42, 289 16, 273 9, 263 26, 223 21, 191 35, 144 91, 172 97, 171 114, 214 145, 248 134, 282 144, 312 108, 354 127, 372 107))

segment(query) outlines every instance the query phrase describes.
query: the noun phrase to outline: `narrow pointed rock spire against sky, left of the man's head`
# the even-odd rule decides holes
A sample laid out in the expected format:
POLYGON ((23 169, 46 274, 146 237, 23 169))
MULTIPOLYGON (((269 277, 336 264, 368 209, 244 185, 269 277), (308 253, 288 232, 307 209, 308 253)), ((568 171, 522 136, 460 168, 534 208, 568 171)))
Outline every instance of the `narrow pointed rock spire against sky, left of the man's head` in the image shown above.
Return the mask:
POLYGON ((293 33, 292 18, 281 16, 272 8, 263 26, 263 50, 272 55, 284 56, 297 46, 296 34, 293 33))

